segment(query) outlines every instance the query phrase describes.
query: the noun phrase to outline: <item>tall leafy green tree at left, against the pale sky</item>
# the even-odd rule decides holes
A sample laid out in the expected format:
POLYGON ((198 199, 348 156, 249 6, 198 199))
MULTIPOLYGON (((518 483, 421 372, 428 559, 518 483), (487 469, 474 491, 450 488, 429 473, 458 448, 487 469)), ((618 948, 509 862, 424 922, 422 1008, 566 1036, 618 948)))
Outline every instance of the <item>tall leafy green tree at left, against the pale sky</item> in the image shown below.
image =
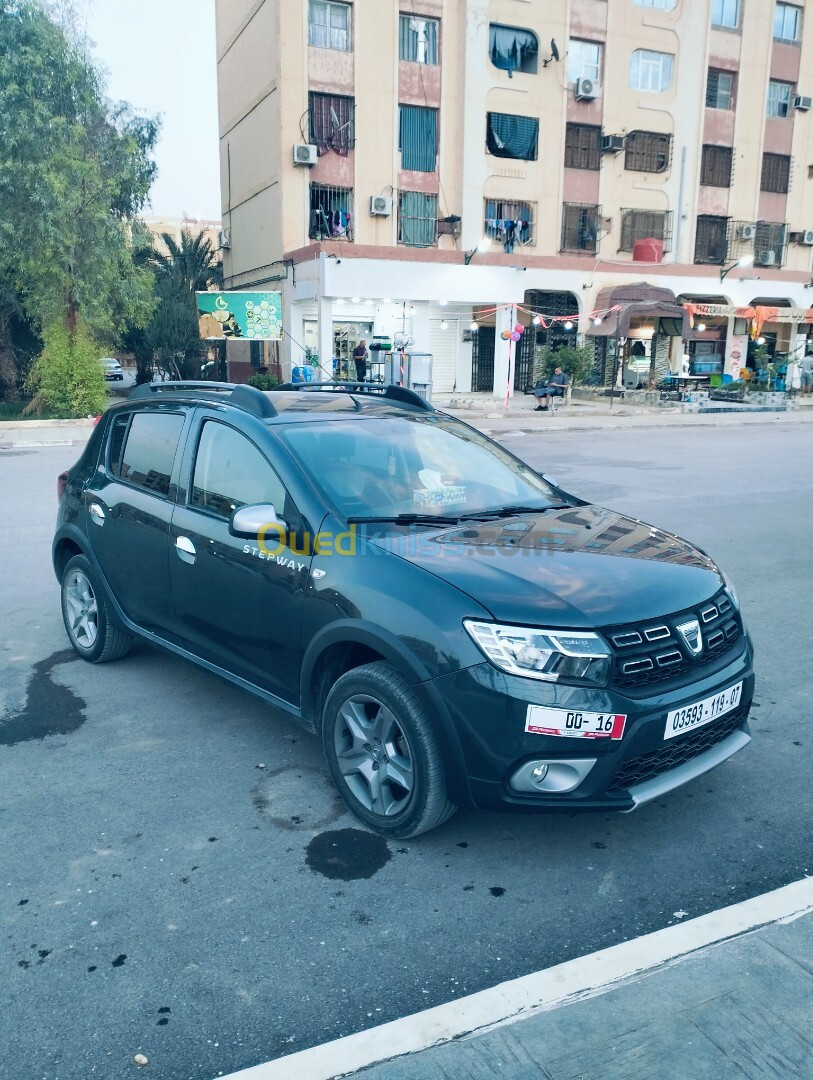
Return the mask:
POLYGON ((130 229, 157 136, 154 120, 106 100, 70 29, 35 0, 0 0, 0 294, 18 298, 46 346, 59 325, 98 338, 149 319, 151 274, 133 261, 130 229))

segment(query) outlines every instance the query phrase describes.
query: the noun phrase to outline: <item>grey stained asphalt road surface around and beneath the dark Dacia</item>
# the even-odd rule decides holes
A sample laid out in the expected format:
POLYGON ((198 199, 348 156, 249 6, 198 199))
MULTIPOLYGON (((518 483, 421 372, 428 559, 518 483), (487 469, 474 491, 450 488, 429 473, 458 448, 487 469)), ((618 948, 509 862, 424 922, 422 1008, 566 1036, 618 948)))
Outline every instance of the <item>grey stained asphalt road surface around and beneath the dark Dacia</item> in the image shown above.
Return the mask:
POLYGON ((0 1076, 214 1078, 693 917, 811 867, 813 429, 507 436, 696 541, 756 639, 753 744, 622 816, 459 812, 385 843, 310 735, 149 647, 72 659, 58 447, 0 451, 0 1076))

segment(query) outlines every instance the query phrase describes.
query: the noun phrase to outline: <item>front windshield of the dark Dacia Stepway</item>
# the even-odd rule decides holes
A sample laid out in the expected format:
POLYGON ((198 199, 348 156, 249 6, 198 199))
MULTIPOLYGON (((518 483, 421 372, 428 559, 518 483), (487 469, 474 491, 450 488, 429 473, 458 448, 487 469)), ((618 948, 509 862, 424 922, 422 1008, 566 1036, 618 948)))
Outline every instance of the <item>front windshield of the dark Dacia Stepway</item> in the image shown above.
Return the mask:
POLYGON ((345 518, 457 518, 563 501, 530 468, 448 417, 297 423, 284 437, 345 518))

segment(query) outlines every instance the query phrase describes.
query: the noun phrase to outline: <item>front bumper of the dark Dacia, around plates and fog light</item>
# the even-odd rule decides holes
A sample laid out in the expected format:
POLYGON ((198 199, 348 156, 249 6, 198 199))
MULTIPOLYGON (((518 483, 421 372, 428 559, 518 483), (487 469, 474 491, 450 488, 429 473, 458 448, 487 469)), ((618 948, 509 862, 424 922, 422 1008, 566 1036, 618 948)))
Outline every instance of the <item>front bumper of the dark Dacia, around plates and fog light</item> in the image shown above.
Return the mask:
MULTIPOLYGON (((489 663, 443 676, 435 687, 465 760, 474 806, 504 810, 634 810, 721 764, 750 741, 754 651, 747 634, 720 662, 647 696, 560 686, 505 675, 489 663), (712 669, 712 670, 709 670, 712 669), (743 683, 739 705, 700 728, 664 740, 666 714, 743 683), (528 705, 623 713, 621 740, 568 739, 526 732, 528 705), (585 759, 594 761, 580 769, 585 759), (512 778, 537 761, 560 761, 558 773, 585 772, 570 791, 516 791, 512 778)), ((676 680, 678 681, 678 680, 676 680)), ((553 784, 556 787, 556 784, 553 784)))

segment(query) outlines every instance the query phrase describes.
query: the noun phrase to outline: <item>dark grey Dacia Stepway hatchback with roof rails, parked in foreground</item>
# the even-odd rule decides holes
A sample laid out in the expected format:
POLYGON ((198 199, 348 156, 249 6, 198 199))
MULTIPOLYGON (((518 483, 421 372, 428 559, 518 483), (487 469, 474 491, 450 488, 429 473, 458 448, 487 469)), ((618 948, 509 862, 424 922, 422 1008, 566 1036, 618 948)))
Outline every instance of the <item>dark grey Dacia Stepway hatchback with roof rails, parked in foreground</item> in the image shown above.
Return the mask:
POLYGON ((749 741, 712 558, 403 388, 141 386, 58 491, 79 656, 144 638, 276 706, 383 835, 632 810, 749 741))

